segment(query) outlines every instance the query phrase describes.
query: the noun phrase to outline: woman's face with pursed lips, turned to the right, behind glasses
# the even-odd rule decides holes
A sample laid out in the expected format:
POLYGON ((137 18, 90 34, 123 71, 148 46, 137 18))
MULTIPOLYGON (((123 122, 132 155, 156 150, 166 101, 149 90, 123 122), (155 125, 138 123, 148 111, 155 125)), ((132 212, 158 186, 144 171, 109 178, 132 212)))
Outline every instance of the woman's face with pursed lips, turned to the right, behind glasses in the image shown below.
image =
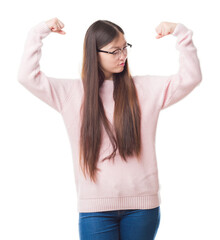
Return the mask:
MULTIPOLYGON (((121 49, 126 46, 126 40, 124 38, 124 34, 120 32, 119 37, 114 39, 111 43, 104 46, 100 50, 113 52, 116 49, 121 49)), ((113 73, 119 73, 124 70, 124 66, 120 65, 121 63, 125 63, 127 56, 121 53, 120 58, 116 58, 113 54, 108 54, 104 52, 98 52, 98 59, 101 65, 101 69, 105 73, 105 79, 111 79, 113 73)))

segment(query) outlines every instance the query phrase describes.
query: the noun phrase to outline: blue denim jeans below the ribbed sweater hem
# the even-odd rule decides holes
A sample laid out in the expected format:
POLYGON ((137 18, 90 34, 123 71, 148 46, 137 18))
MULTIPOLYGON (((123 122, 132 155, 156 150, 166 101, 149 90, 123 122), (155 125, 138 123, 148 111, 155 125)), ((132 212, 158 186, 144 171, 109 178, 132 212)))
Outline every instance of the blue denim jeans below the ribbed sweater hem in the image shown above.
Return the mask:
POLYGON ((154 240, 160 206, 104 212, 79 212, 80 240, 154 240))

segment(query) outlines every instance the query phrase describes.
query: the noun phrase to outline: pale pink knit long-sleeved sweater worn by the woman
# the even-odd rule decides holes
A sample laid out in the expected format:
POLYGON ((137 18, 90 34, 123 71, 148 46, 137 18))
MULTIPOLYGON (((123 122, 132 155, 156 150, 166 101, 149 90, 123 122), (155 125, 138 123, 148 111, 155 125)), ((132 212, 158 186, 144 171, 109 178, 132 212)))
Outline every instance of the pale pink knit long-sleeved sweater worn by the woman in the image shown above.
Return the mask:
MULTIPOLYGON (((110 160, 98 162, 96 184, 84 178, 79 166, 79 110, 83 85, 78 79, 58 79, 40 70, 42 39, 51 33, 46 23, 32 27, 24 45, 18 71, 18 81, 36 97, 57 110, 63 118, 71 144, 78 212, 98 212, 121 209, 150 209, 160 205, 160 188, 155 153, 155 132, 159 113, 189 94, 202 80, 193 32, 178 23, 173 36, 177 37, 179 71, 170 76, 133 76, 141 111, 142 161, 135 157, 125 163, 116 154, 115 164, 110 160)), ((106 114, 113 122, 113 81, 105 80, 100 89, 106 114)), ((112 153, 107 133, 101 146, 100 159, 112 153)))

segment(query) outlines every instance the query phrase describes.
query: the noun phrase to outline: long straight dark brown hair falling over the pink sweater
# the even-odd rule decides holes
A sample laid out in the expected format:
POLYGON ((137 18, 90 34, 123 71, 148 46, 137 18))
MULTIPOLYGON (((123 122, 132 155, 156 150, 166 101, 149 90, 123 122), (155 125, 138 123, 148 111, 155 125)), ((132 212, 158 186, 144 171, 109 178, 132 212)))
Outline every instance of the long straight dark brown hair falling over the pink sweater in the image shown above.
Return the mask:
POLYGON ((80 166, 89 173, 90 179, 96 182, 96 172, 99 152, 102 142, 102 126, 109 136, 113 152, 102 159, 111 159, 118 149, 120 156, 127 162, 126 157, 138 157, 141 152, 141 111, 138 95, 126 59, 124 70, 113 73, 113 99, 115 102, 113 126, 105 115, 99 88, 105 80, 104 72, 98 61, 97 49, 101 49, 124 31, 113 22, 98 20, 87 30, 83 44, 83 63, 81 79, 84 97, 80 109, 80 166), (83 163, 82 163, 83 157, 83 163), (83 165, 83 166, 82 166, 83 165))

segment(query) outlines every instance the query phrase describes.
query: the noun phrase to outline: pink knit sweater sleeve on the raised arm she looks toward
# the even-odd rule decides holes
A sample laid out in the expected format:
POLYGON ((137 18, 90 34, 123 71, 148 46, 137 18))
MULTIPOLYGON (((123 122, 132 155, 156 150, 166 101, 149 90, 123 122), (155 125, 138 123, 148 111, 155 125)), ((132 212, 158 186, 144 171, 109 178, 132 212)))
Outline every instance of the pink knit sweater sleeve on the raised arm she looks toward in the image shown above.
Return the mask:
POLYGON ((197 49, 192 41, 193 32, 185 25, 178 23, 172 35, 177 37, 179 70, 177 74, 164 78, 161 110, 184 98, 202 80, 197 49))

